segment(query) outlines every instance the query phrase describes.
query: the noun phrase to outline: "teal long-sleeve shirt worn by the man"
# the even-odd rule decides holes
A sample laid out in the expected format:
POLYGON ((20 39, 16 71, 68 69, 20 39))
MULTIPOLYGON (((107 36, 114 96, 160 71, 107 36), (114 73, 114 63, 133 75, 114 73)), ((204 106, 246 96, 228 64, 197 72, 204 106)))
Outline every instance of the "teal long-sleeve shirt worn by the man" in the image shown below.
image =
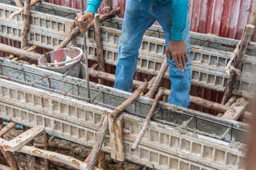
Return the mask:
MULTIPOLYGON (((95 13, 103 0, 88 0, 86 11, 95 13)), ((172 39, 180 41, 183 39, 183 32, 186 26, 188 3, 189 0, 145 0, 151 3, 167 4, 170 3, 170 10, 172 10, 172 39)), ((163 13, 164 15, 164 13, 163 13)))

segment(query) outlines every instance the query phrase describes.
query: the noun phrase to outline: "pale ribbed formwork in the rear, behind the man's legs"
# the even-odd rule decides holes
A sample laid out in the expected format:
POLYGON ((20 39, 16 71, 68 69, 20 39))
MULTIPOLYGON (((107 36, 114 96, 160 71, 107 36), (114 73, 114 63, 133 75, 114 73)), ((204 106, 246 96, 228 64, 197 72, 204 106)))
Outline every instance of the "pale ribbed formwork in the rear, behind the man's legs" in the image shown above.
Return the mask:
MULTIPOLYGON (((1 27, 3 27, 0 31, 0 36, 20 41, 20 33, 15 33, 17 32, 15 30, 21 30, 20 26, 16 21, 12 21, 8 18, 8 15, 12 11, 17 10, 17 7, 1 4, 0 9, 0 24, 1 27)), ((48 3, 38 4, 38 6, 34 7, 34 10, 39 10, 41 12, 31 12, 33 22, 30 29, 32 36, 30 37, 29 43, 50 49, 55 48, 61 40, 65 38, 65 34, 70 31, 74 24, 74 15, 78 12, 78 10, 72 8, 48 3), (49 9, 54 10, 49 11, 49 9), (44 11, 44 13, 42 13, 42 11, 44 11), (54 17, 49 13, 54 13, 54 17), (60 17, 56 17, 56 15, 59 15, 60 17), (64 18, 64 16, 66 17, 64 18), (69 18, 73 18, 73 20, 69 18), (52 25, 55 26, 53 27, 52 25), (60 31, 58 31, 59 25, 60 31)), ((17 17, 15 20, 19 20, 19 18, 21 17, 17 17)), ((111 19, 104 22, 102 25, 104 25, 102 26, 102 41, 105 61, 108 64, 116 65, 122 19, 111 19)), ((141 43, 136 70, 142 73, 156 75, 165 57, 163 30, 161 27, 154 25, 150 27, 145 34, 147 36, 143 37, 143 42, 141 43)), ((93 30, 88 31, 87 36, 88 57, 89 59, 97 60, 97 57, 95 57, 96 50, 93 30)), ((81 46, 83 44, 83 37, 77 36, 73 43, 76 46, 81 46)), ((228 78, 224 68, 230 59, 231 54, 231 52, 226 52, 225 50, 234 49, 237 41, 191 32, 191 43, 193 43, 190 48, 191 59, 193 60, 191 67, 193 71, 192 83, 194 85, 223 91, 228 78)), ((252 53, 253 48, 255 48, 255 43, 252 43, 249 46, 248 54, 252 53)), ((237 78, 239 81, 237 81, 238 83, 234 90, 234 94, 244 97, 252 97, 252 89, 255 84, 253 82, 256 71, 255 64, 256 58, 246 55, 243 72, 241 76, 237 78)), ((168 78, 168 71, 166 71, 165 77, 168 78)))

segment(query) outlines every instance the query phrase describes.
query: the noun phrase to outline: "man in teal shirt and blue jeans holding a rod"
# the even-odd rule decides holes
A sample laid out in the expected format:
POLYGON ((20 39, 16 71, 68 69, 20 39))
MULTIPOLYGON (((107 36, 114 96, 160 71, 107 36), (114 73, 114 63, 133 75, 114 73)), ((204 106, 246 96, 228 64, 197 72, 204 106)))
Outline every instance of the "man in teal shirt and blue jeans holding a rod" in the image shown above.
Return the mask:
MULTIPOLYGON (((88 0, 86 13, 77 14, 77 25, 92 22, 102 0, 88 0)), ((118 46, 115 88, 132 92, 138 50, 143 34, 157 20, 163 27, 170 66, 171 92, 168 103, 188 107, 191 85, 189 59, 189 0, 127 0, 122 37, 118 46)))

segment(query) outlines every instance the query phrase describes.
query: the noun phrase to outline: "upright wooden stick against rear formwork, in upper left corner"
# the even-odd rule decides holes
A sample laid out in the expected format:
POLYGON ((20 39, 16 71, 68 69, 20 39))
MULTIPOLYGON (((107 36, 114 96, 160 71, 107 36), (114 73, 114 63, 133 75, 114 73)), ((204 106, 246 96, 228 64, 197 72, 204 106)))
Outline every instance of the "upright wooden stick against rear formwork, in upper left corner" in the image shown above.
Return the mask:
POLYGON ((22 29, 22 38, 21 38, 21 48, 28 46, 28 31, 30 26, 30 0, 25 0, 24 8, 24 20, 23 20, 23 29, 22 29))

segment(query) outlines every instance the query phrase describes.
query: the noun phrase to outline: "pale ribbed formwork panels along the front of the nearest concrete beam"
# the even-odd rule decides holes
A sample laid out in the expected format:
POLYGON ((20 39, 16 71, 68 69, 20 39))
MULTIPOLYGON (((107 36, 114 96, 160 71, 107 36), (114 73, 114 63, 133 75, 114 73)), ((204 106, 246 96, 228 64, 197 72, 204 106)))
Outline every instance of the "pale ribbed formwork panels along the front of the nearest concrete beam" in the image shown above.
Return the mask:
MULTIPOLYGON (((92 146, 104 114, 113 110, 71 97, 0 80, 0 117, 92 146)), ((230 143, 170 125, 150 122, 138 149, 131 152, 144 119, 124 113, 125 158, 156 169, 244 169, 244 153, 230 143)), ((218 129, 216 129, 218 130, 218 129)), ((103 150, 110 152, 109 136, 103 150)))

